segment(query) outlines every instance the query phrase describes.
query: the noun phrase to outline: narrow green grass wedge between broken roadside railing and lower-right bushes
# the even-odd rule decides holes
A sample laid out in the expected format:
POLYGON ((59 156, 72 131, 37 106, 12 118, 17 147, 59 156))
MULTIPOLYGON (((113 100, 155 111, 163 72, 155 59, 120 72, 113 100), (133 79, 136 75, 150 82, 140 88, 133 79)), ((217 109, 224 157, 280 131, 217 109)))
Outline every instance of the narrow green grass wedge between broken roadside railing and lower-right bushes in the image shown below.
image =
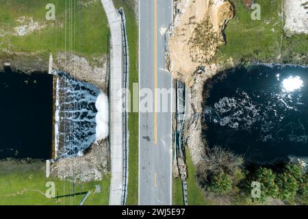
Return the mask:
POLYGON ((212 205, 211 202, 205 200, 204 192, 196 181, 196 169, 194 164, 192 164, 192 157, 189 151, 186 151, 186 164, 188 166, 188 205, 212 205))

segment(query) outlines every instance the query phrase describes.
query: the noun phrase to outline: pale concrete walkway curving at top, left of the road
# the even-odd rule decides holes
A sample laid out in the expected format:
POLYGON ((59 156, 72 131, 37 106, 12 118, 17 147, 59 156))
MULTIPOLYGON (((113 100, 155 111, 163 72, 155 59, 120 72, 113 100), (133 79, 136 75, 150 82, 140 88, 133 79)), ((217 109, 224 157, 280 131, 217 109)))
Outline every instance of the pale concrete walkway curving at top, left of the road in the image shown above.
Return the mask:
POLYGON ((101 0, 110 26, 110 205, 122 204, 123 190, 123 100, 120 95, 123 81, 123 45, 121 18, 112 0, 101 0))

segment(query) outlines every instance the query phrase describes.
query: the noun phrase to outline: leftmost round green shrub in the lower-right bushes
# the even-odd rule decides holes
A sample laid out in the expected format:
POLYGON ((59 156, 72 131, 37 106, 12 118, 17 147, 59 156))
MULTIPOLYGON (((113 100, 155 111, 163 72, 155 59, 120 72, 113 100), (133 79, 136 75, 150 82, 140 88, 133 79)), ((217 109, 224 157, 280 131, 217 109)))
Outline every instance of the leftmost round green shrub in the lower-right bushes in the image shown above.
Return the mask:
POLYGON ((209 190, 220 194, 227 194, 231 191, 232 185, 233 181, 231 177, 224 173, 220 173, 214 175, 211 184, 209 185, 209 190))

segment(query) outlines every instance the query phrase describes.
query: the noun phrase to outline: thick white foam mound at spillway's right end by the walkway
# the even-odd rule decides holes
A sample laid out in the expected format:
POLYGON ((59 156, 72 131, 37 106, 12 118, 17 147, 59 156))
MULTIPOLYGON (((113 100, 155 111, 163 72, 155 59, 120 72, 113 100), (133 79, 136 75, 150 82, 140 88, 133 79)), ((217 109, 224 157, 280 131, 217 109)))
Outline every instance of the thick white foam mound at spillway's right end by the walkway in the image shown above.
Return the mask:
POLYGON ((99 96, 97 96, 95 107, 97 108, 97 115, 95 116, 97 123, 96 141, 98 141, 107 138, 109 135, 109 104, 106 94, 101 92, 99 96))

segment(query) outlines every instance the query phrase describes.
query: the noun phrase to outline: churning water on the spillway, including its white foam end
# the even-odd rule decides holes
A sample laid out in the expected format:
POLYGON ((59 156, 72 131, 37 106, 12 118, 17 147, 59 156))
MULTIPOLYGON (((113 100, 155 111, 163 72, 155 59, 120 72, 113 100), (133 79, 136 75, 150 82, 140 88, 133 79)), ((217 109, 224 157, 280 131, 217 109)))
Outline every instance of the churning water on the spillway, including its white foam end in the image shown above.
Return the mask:
POLYGON ((55 158, 82 155, 108 136, 107 96, 91 83, 56 71, 55 158))

